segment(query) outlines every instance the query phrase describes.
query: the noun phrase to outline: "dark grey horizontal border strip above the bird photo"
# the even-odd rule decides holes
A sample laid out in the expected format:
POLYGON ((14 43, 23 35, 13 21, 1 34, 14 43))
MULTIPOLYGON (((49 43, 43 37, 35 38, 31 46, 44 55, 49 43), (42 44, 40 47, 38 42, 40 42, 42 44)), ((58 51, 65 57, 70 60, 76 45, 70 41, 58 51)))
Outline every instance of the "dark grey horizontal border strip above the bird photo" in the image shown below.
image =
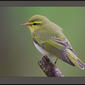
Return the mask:
POLYGON ((85 1, 0 1, 0 6, 85 6, 85 1))

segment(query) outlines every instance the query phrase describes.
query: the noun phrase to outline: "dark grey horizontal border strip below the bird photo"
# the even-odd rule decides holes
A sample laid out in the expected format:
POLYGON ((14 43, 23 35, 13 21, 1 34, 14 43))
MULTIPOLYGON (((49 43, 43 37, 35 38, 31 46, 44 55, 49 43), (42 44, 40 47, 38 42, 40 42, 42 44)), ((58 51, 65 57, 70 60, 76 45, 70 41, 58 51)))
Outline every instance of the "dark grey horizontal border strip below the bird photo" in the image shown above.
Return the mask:
POLYGON ((85 78, 14 77, 14 78, 0 78, 0 84, 85 84, 85 78))

